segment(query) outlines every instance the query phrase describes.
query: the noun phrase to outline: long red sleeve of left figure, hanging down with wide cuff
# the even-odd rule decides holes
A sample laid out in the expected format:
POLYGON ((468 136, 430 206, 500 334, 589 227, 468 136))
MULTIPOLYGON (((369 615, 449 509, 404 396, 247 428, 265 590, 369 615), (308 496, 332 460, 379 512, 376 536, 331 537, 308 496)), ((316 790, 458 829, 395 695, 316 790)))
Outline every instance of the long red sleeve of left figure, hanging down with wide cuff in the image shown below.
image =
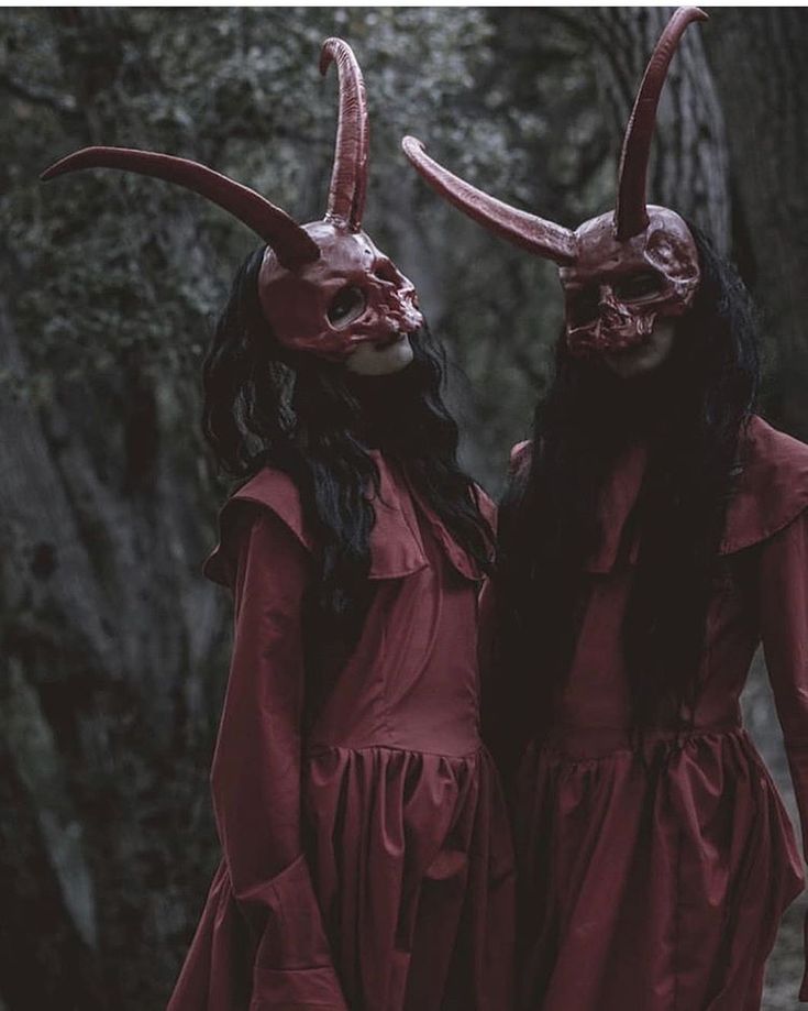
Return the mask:
POLYGON ((270 510, 239 508, 228 551, 233 655, 211 784, 224 866, 254 944, 250 1011, 346 1011, 300 832, 310 559, 270 510))

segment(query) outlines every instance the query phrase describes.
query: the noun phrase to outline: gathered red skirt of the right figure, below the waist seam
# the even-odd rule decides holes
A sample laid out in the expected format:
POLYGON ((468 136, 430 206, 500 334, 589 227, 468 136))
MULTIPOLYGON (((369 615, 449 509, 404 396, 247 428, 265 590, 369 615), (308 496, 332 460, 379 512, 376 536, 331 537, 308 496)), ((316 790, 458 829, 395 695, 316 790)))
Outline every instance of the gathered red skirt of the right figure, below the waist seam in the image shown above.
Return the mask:
POLYGON ((740 727, 557 732, 520 771, 521 1011, 757 1011, 803 888, 788 815, 740 727))

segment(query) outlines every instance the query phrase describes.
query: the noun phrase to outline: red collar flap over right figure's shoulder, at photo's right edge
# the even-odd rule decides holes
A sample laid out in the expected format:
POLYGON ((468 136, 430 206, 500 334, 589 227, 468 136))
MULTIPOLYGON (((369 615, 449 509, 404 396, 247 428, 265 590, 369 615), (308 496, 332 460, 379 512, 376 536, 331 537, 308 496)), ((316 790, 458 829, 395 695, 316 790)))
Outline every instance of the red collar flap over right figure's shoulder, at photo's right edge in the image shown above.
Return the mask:
POLYGON ((808 508, 808 446, 753 416, 739 448, 722 554, 767 540, 808 508))

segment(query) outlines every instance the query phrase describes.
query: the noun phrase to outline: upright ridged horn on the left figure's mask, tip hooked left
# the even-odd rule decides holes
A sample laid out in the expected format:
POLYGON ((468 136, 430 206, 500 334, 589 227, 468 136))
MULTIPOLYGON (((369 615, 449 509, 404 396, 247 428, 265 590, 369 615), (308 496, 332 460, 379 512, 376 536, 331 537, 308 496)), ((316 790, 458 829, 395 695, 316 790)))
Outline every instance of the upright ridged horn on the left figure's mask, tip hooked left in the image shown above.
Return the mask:
POLYGON ((323 42, 321 74, 328 73, 332 61, 336 62, 340 78, 340 118, 326 217, 346 221, 353 231, 358 231, 367 193, 369 127, 365 83, 353 50, 342 39, 323 42))

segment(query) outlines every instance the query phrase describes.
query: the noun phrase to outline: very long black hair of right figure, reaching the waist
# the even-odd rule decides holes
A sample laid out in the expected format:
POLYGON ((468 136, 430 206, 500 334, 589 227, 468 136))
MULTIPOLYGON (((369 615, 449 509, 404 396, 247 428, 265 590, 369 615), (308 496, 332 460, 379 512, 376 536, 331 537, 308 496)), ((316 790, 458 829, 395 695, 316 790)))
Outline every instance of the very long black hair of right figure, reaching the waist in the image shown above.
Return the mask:
MULTIPOLYGON (((497 652, 500 696, 521 700, 517 722, 529 713, 523 735, 553 718, 586 600, 586 562, 602 534, 599 493, 639 439, 647 440, 649 458, 631 518, 640 553, 622 627, 633 725, 680 726, 695 702, 759 359, 743 283, 693 232, 701 283, 677 322, 668 360, 650 376, 626 381, 598 360, 571 356, 562 337, 554 381, 536 407, 530 463, 506 493, 497 652)), ((500 697, 496 718, 503 712, 500 697)), ((508 733, 518 736, 517 727, 508 733)))

